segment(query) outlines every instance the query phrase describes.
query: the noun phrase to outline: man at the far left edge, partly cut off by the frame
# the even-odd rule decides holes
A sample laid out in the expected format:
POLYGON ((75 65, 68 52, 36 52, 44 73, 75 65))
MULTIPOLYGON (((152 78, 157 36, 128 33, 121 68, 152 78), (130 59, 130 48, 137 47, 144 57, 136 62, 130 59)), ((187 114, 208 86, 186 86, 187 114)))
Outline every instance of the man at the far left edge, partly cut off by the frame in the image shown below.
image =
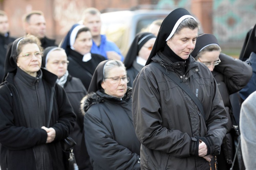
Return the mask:
POLYGON ((10 37, 9 34, 8 16, 4 11, 0 10, 0 83, 2 82, 4 75, 4 61, 7 46, 14 40, 15 38, 10 37))

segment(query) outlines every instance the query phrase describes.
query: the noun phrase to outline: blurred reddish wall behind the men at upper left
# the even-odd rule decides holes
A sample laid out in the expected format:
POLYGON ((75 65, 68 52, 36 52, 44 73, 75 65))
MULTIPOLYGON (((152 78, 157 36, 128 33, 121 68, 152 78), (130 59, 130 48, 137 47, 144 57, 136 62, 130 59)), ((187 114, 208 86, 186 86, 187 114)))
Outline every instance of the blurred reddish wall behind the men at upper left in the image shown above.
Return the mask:
POLYGON ((70 27, 81 19, 82 11, 87 7, 96 7, 100 11, 116 8, 127 9, 137 5, 137 0, 3 0, 0 9, 9 17, 10 33, 20 37, 25 34, 22 16, 31 10, 40 10, 46 20, 46 35, 55 38, 57 43, 66 35, 70 27))

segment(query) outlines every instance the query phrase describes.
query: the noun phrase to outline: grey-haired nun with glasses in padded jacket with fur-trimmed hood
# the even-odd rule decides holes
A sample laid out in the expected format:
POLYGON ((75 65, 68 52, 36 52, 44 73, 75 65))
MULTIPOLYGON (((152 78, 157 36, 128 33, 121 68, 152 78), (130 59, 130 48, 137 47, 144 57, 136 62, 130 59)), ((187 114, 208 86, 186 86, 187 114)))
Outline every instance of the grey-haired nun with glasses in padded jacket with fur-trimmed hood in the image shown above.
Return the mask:
POLYGON ((103 61, 81 101, 85 143, 93 169, 140 169, 140 142, 134 131, 128 82, 121 61, 103 61))

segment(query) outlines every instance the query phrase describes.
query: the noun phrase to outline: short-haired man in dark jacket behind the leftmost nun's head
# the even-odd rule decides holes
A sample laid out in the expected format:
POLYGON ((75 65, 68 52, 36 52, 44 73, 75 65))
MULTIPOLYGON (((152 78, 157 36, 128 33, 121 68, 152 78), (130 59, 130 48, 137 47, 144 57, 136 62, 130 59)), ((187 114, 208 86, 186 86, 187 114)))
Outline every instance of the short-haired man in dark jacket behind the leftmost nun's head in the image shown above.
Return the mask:
POLYGON ((23 22, 26 34, 38 37, 44 49, 49 46, 57 46, 54 39, 49 39, 45 36, 46 22, 43 12, 31 11, 24 16, 23 22))

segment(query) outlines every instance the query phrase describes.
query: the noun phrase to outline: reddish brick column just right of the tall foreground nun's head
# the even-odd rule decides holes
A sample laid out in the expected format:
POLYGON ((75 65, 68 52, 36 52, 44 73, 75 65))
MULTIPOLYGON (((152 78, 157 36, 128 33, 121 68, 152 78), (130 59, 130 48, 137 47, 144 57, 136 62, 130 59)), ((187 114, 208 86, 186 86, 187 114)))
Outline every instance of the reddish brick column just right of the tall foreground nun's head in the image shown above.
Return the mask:
POLYGON ((192 0, 191 13, 199 20, 203 32, 212 34, 213 0, 192 0))

